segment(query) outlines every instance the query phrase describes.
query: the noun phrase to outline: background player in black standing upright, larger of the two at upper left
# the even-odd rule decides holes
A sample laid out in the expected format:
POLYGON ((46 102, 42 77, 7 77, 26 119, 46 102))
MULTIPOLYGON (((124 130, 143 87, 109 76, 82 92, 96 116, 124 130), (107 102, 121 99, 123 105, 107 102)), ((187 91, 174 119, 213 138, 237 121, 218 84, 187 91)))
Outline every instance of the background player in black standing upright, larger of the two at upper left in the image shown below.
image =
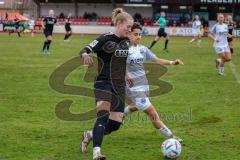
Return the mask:
POLYGON ((44 29, 43 33, 46 37, 43 45, 43 53, 50 54, 49 48, 52 42, 52 32, 54 24, 57 23, 57 19, 54 17, 54 11, 49 10, 49 16, 45 17, 42 21, 42 28, 44 29))

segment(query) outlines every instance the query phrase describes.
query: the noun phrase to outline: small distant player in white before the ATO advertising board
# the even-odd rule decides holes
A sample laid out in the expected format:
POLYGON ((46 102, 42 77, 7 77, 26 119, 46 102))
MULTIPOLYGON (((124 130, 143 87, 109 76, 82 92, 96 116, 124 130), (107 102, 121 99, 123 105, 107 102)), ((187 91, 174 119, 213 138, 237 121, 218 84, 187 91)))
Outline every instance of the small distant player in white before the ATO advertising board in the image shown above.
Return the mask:
POLYGON ((192 23, 193 39, 189 43, 196 42, 199 47, 201 43, 201 27, 202 23, 199 20, 199 16, 196 15, 192 23))

